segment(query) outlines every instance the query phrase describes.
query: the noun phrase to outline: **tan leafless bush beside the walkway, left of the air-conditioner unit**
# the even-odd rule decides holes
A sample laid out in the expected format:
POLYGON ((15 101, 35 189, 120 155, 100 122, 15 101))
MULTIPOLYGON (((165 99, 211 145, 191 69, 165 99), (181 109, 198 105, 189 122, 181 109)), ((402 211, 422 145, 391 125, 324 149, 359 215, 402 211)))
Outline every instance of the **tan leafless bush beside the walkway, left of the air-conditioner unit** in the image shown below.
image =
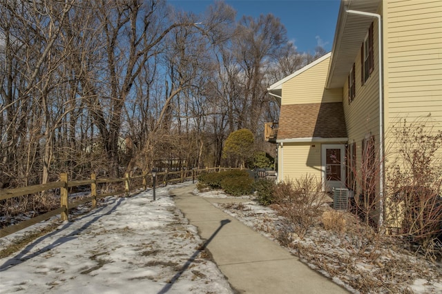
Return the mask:
POLYGON ((275 188, 273 207, 289 221, 301 239, 323 212, 321 206, 326 195, 321 190, 321 183, 312 175, 282 182, 275 188))

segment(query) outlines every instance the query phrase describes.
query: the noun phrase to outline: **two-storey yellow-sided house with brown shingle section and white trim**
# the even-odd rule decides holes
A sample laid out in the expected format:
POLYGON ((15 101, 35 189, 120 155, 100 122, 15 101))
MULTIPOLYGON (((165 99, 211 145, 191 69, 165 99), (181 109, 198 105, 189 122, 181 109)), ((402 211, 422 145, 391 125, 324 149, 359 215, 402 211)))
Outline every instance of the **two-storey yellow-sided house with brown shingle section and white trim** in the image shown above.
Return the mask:
POLYGON ((338 13, 332 52, 267 89, 280 119, 265 139, 278 181, 310 173, 356 194, 361 166, 378 166, 381 193, 390 128, 428 117, 442 129, 442 1, 342 0, 338 13))

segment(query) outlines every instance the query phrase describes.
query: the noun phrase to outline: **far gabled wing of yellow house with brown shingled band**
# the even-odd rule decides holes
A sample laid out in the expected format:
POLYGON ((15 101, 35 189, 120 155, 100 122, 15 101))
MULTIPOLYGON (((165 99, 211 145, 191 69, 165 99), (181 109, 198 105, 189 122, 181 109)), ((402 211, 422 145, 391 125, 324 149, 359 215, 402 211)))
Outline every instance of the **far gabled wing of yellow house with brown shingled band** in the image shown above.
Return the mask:
POLYGON ((331 55, 269 88, 273 95, 282 97, 278 133, 272 138, 278 143, 278 181, 309 173, 328 176, 330 188, 343 186, 341 179, 345 183, 345 165, 340 163, 348 137, 342 88, 325 87, 331 55), (321 157, 327 153, 333 154, 335 162, 323 168, 325 159, 321 157))

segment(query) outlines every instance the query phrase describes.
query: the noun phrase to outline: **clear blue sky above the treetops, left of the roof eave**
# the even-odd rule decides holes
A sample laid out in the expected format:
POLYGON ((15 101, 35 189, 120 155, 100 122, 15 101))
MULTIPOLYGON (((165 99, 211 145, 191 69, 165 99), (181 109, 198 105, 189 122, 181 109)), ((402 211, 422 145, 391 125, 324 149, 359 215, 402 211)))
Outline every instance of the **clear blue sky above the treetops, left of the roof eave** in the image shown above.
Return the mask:
MULTIPOLYGON (((258 17, 271 13, 287 29, 299 52, 314 53, 316 46, 331 51, 338 17, 339 0, 227 0, 227 4, 242 15, 258 17)), ((211 5, 211 0, 169 0, 169 4, 198 14, 211 5)))

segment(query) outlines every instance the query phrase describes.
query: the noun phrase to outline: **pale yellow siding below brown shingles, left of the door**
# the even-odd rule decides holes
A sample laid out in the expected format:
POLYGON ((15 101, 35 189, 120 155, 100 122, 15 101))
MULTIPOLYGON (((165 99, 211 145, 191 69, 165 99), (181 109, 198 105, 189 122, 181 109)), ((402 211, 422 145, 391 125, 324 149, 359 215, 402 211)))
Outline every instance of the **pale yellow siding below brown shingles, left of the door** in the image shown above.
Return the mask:
POLYGON ((320 181, 320 144, 285 143, 282 147, 282 158, 281 148, 278 154, 280 181, 296 179, 306 174, 315 175, 320 181))

